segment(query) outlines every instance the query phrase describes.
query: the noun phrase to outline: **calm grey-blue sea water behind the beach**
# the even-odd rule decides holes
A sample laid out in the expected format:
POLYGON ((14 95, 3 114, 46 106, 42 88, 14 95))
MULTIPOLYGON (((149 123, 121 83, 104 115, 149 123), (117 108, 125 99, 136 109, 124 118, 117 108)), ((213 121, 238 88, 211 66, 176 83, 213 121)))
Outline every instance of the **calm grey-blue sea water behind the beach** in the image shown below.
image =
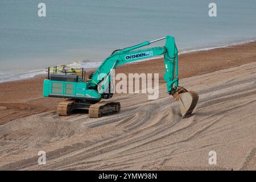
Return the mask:
POLYGON ((255 0, 2 0, 0 82, 57 64, 95 68, 114 49, 166 35, 175 37, 179 52, 250 42, 255 17, 255 0), (42 2, 45 17, 38 16, 42 2), (209 16, 211 2, 216 17, 209 16))

